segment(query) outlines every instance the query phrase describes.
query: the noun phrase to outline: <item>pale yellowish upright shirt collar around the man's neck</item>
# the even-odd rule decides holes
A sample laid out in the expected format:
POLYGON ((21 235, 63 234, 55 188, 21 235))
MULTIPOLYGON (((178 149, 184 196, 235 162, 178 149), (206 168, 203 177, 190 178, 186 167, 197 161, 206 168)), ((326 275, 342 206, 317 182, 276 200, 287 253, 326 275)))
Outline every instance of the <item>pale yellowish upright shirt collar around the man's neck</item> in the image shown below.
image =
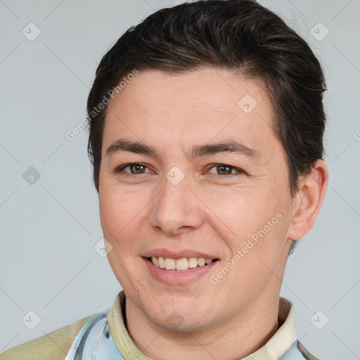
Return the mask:
MULTIPOLYGON (((143 354, 134 341, 131 339, 129 332, 124 323, 122 309, 125 301, 124 290, 117 295, 113 307, 109 313, 110 333, 113 336, 115 345, 124 356, 125 360, 153 360, 143 354)), ((272 338, 256 352, 239 360, 276 360, 283 356, 286 351, 293 345, 297 339, 294 328, 295 311, 293 303, 285 299, 279 298, 278 322, 281 325, 272 338)))

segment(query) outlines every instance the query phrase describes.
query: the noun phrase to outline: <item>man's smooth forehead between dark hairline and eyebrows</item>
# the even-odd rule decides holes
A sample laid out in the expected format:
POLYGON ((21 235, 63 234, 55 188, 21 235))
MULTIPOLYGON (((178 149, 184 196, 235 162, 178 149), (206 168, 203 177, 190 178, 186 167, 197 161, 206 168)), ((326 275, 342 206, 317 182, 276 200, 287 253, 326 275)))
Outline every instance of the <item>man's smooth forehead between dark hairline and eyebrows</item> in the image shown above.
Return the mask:
MULTIPOLYGON (((188 148, 221 137, 253 148, 275 136, 273 110, 264 84, 226 70, 203 68, 173 74, 140 71, 110 101, 103 144, 133 141, 188 148)), ((268 146, 271 144, 268 143, 268 146)))

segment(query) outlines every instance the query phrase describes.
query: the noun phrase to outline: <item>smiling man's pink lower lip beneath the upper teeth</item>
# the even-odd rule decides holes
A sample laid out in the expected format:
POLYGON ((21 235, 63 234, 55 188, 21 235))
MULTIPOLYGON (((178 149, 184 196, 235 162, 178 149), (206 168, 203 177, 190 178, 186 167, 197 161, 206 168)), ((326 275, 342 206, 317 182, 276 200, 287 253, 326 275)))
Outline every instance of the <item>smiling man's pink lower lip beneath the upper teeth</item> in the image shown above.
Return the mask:
POLYGON ((162 283, 166 283, 168 285, 186 285, 188 283, 192 283, 201 276, 207 274, 207 271, 210 271, 214 266, 217 265, 219 260, 216 262, 212 262, 209 265, 205 266, 197 266, 193 269, 188 270, 167 270, 160 269, 158 266, 155 266, 148 259, 143 257, 143 261, 150 271, 150 274, 153 275, 157 280, 162 281, 162 283))

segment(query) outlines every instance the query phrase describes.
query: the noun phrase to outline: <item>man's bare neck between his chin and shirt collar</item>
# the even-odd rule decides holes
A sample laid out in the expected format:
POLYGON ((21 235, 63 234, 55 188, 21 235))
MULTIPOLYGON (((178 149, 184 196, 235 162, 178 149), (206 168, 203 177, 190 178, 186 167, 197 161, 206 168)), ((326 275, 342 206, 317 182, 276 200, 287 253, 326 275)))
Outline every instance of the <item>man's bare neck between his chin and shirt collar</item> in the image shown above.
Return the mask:
POLYGON ((157 326, 148 321, 135 304, 127 301, 127 330, 141 352, 156 360, 238 360, 257 351, 276 333, 278 301, 278 294, 271 298, 259 296, 231 319, 188 333, 157 326))

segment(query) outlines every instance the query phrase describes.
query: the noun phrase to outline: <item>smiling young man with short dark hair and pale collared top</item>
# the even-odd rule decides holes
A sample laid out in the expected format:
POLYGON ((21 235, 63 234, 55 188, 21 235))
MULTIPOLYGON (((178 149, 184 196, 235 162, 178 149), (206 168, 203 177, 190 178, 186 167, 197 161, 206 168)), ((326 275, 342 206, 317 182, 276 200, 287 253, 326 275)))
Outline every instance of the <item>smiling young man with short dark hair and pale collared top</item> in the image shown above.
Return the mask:
POLYGON ((0 359, 316 359, 279 293, 326 192, 324 90, 306 42, 255 1, 181 4, 131 27, 87 104, 123 290, 0 359))

